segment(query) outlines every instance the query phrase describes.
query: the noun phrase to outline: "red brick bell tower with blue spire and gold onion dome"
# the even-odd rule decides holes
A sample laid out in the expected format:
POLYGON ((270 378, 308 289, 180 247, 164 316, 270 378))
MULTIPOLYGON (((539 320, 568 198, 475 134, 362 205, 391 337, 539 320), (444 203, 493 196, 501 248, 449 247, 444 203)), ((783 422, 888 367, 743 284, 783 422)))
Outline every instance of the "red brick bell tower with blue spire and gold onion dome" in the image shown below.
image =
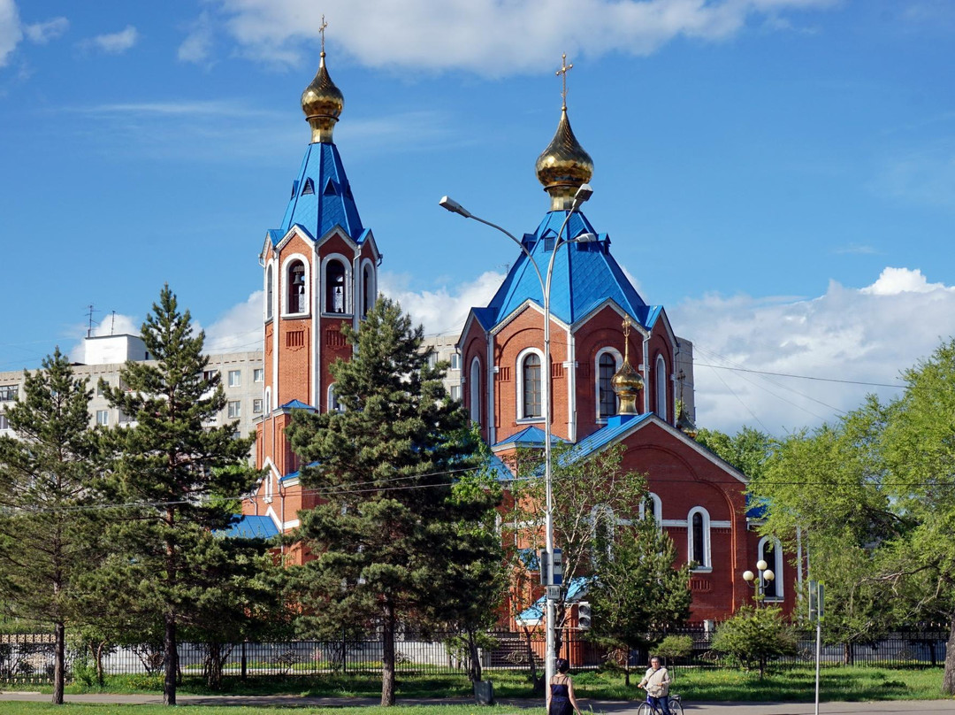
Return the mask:
POLYGON ((292 181, 282 224, 265 232, 259 254, 265 365, 256 466, 267 471, 244 510, 272 516, 279 531, 293 528, 296 511, 314 503, 298 487, 299 464, 287 444, 286 426, 295 410, 338 409, 329 365, 350 358, 342 326, 357 329, 368 314, 381 263, 333 141, 345 98, 329 76, 325 28, 323 17, 318 72, 302 93, 311 141, 292 181))

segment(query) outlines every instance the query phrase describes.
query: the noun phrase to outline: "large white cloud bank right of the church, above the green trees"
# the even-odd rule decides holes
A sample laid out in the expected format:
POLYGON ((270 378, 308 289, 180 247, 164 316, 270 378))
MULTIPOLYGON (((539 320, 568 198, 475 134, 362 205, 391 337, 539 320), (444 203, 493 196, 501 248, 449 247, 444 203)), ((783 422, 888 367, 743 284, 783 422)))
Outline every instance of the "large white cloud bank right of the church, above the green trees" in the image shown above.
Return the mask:
POLYGON ((861 289, 832 282, 823 295, 783 302, 710 294, 668 312, 694 345, 700 426, 782 434, 831 421, 869 392, 888 399, 899 390, 738 368, 900 384, 903 369, 955 335, 955 288, 929 283, 917 269, 886 268, 861 289))

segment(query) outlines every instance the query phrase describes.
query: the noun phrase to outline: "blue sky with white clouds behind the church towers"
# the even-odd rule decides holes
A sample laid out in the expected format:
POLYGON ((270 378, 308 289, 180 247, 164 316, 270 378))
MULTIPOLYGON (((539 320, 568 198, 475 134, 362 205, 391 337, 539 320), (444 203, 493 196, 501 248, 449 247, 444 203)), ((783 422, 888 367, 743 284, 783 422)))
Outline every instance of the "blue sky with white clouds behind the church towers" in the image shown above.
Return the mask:
POLYGON ((775 433, 891 388, 955 329, 955 3, 947 0, 0 0, 0 370, 138 327, 168 281, 256 346, 265 229, 318 63, 383 284, 452 330, 547 208, 568 105, 586 214, 696 345, 698 422, 775 433), (732 368, 732 369, 731 369, 732 368))

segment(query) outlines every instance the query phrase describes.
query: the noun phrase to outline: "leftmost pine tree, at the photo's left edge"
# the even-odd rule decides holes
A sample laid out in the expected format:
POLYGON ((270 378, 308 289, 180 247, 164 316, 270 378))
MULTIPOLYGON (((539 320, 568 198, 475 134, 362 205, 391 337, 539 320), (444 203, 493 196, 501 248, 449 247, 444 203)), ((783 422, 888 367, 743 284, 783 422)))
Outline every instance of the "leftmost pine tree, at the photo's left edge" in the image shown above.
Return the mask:
POLYGON ((23 399, 6 411, 16 437, 0 437, 0 603, 53 628, 54 704, 63 703, 66 627, 82 611, 81 574, 100 555, 91 398, 57 348, 26 374, 23 399))

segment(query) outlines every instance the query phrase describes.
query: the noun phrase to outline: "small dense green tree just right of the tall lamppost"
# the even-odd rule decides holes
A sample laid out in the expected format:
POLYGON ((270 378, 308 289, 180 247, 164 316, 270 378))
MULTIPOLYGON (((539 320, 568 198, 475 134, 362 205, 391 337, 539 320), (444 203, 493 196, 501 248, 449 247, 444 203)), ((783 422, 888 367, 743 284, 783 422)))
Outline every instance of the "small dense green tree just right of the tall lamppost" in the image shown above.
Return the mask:
POLYGON ((627 685, 630 651, 690 617, 690 565, 675 561, 672 539, 651 516, 598 534, 588 638, 620 654, 627 685))

